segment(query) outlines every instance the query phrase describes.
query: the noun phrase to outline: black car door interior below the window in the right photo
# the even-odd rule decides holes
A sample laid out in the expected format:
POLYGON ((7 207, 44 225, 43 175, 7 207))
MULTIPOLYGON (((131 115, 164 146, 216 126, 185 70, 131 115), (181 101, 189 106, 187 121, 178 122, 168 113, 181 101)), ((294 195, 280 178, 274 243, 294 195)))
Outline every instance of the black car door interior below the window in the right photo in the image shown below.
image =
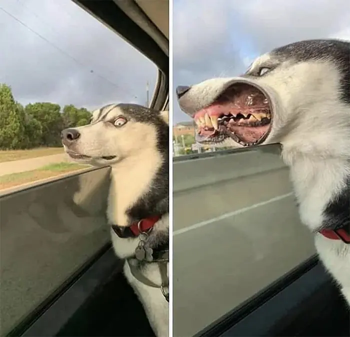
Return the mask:
POLYGON ((193 337, 330 336, 346 329, 346 315, 338 287, 314 254, 193 337))

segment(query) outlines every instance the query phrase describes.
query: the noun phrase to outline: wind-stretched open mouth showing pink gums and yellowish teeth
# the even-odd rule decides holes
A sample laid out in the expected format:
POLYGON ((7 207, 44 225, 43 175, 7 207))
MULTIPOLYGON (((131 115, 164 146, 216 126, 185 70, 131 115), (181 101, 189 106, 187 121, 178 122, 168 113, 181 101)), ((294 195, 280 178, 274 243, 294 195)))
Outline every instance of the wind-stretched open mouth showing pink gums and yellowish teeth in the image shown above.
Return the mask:
POLYGON ((200 143, 218 143, 230 137, 243 146, 251 146, 263 142, 270 132, 271 103, 256 86, 234 83, 193 118, 200 143))

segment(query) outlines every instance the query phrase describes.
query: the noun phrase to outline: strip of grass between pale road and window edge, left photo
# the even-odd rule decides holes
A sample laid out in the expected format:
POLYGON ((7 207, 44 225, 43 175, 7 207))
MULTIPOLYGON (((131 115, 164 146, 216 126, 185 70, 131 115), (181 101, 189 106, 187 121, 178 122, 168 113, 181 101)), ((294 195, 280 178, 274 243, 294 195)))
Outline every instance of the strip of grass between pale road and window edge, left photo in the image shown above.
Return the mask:
POLYGON ((35 180, 53 177, 55 175, 76 171, 86 167, 89 167, 89 165, 58 162, 31 171, 1 175, 0 189, 18 186, 26 182, 33 182, 35 180))

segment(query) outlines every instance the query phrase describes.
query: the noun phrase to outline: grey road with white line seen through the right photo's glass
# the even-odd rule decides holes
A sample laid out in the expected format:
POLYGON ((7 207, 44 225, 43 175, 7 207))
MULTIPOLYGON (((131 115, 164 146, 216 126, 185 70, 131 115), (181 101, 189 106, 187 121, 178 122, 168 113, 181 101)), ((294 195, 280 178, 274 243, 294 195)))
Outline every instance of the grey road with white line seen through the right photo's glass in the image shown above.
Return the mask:
POLYGON ((174 189, 182 186, 173 201, 176 337, 198 332, 314 252, 276 153, 198 160, 180 181, 181 165, 174 165, 174 189), (241 176, 244 165, 252 174, 241 176))

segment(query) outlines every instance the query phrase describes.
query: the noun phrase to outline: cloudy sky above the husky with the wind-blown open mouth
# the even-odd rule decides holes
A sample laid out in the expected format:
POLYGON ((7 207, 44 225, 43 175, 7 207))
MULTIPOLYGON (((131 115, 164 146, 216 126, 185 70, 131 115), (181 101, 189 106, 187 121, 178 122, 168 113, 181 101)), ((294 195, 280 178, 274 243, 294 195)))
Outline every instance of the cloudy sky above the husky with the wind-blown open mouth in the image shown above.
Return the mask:
MULTIPOLYGON (((173 0, 173 89, 236 76, 303 39, 350 40, 349 0, 173 0)), ((174 123, 189 120, 173 103, 174 123)))

